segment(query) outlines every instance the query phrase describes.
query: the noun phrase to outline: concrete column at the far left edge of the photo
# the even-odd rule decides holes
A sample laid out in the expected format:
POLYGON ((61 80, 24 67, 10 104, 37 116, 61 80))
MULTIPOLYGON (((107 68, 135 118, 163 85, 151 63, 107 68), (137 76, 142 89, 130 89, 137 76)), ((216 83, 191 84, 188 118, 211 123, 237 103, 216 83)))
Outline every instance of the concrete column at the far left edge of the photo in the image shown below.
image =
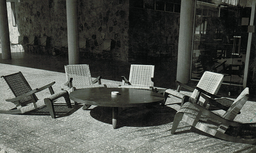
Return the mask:
POLYGON ((0 39, 2 59, 11 59, 10 34, 8 25, 6 0, 0 0, 0 39))

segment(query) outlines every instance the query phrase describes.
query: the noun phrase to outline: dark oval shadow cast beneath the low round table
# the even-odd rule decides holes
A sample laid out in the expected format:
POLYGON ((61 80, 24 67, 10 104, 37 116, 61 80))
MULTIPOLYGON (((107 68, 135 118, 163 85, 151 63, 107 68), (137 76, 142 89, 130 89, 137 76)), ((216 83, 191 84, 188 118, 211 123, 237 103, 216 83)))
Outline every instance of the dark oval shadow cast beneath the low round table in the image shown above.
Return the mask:
MULTIPOLYGON (((176 110, 167 106, 118 108, 118 127, 150 127, 173 122, 176 110)), ((90 109, 90 115, 100 122, 112 124, 112 107, 97 106, 90 109)))

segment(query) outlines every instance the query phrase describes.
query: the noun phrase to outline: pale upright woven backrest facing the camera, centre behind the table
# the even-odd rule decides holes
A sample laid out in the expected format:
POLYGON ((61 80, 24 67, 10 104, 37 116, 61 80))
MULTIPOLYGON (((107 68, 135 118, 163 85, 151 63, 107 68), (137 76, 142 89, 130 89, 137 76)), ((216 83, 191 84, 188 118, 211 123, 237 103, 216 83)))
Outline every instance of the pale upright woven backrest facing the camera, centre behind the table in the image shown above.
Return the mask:
POLYGON ((129 82, 132 85, 154 87, 151 78, 154 77, 154 65, 131 65, 129 82))

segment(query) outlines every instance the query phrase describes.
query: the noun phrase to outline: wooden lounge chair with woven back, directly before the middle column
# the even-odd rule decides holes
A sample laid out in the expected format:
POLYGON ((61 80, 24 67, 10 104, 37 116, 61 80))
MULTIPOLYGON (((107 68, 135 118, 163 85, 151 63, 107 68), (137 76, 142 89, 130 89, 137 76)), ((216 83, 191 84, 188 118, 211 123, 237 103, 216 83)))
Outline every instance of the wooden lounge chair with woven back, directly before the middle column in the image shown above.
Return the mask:
MULTIPOLYGON (((77 89, 107 87, 105 84, 101 84, 102 76, 98 76, 95 80, 92 80, 88 64, 65 65, 65 73, 67 82, 64 85, 68 86, 69 92, 77 89)), ((87 110, 90 106, 84 104, 83 110, 87 110)))

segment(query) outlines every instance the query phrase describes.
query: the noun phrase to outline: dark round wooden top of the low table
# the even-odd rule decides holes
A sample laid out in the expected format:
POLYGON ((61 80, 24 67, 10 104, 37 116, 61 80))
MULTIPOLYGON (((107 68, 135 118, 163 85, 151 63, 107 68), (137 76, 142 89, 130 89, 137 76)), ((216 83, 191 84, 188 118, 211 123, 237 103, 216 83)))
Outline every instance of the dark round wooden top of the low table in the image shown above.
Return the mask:
POLYGON ((75 102, 106 107, 141 107, 159 104, 164 96, 151 91, 130 88, 88 88, 69 93, 75 102), (118 91, 120 95, 111 95, 118 91))

